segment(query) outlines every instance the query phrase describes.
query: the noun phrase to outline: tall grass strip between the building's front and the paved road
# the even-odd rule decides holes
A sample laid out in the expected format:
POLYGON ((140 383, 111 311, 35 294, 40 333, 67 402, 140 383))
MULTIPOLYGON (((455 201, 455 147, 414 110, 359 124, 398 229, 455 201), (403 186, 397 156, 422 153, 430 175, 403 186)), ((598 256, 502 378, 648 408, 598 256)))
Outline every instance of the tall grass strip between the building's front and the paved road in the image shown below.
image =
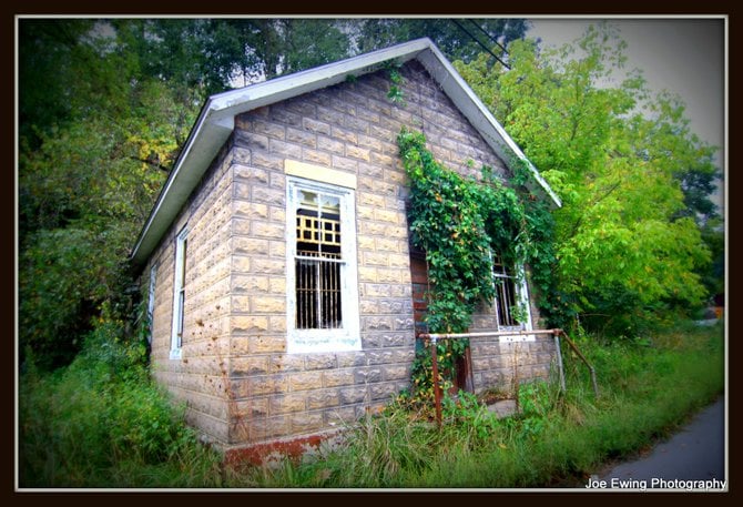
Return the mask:
MULTIPOLYGON (((355 427, 340 450, 233 478, 234 486, 357 488, 582 487, 608 460, 669 435, 724 386, 722 326, 682 326, 652 339, 579 339, 597 369, 596 399, 582 364, 567 353, 568 391, 520 389, 522 413, 496 419, 468 395, 438 429, 390 405, 355 427), (525 403, 526 402, 526 403, 525 403), (287 478, 291 474, 292 479, 287 478), (304 479, 303 479, 304 478, 304 479)), ((446 408, 446 407, 445 407, 446 408)))

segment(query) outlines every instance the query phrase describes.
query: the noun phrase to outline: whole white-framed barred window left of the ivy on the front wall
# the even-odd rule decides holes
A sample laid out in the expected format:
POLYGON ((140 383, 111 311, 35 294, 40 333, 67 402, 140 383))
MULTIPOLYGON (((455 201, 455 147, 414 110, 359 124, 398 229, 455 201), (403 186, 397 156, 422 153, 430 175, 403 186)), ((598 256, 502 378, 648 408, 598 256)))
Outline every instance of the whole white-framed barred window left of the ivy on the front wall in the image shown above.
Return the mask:
POLYGON ((288 184, 289 352, 358 349, 354 192, 288 184))

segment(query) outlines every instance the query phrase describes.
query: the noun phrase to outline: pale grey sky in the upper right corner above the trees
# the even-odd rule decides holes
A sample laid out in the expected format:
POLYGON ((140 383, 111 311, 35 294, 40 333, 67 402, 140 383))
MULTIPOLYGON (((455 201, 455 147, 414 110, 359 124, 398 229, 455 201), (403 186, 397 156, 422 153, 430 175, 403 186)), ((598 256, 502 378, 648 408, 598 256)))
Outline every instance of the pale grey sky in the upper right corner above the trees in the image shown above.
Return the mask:
MULTIPOLYGON (((725 148, 725 19, 717 18, 602 18, 620 30, 628 43, 628 69, 643 71, 651 90, 678 93, 686 104, 692 132, 720 146, 717 163, 724 166, 725 148)), ((560 47, 581 37, 599 21, 591 18, 530 18, 527 37, 542 45, 560 47)), ((723 205, 723 189, 715 196, 723 205)))

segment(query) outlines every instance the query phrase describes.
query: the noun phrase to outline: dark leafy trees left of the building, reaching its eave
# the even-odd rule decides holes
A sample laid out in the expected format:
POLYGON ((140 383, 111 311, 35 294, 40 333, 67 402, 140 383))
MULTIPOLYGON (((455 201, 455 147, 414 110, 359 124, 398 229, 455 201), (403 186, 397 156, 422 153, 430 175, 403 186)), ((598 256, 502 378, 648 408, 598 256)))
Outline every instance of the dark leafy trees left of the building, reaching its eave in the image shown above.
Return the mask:
POLYGON ((131 311, 129 249, 196 109, 140 72, 125 31, 29 20, 21 32, 32 49, 19 62, 19 342, 22 357, 31 349, 53 368, 74 356, 103 302, 131 311), (64 88, 43 93, 37 63, 64 88), (61 105, 44 114, 44 101, 61 105))

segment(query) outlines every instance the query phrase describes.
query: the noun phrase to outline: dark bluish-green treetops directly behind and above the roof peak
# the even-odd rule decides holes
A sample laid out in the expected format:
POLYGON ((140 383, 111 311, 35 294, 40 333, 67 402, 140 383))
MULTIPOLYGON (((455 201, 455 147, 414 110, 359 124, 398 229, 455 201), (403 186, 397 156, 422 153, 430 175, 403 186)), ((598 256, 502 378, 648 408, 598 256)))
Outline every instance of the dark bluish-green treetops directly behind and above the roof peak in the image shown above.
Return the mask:
MULTIPOLYGON (((505 47, 522 38, 528 28, 526 20, 510 18, 243 18, 202 22, 202 47, 210 55, 204 74, 225 85, 241 82, 241 78, 242 84, 272 79, 421 37, 431 38, 451 58, 469 60, 482 51, 475 38, 502 53, 498 44, 505 47)), ((164 23, 170 27, 170 20, 164 23)))

